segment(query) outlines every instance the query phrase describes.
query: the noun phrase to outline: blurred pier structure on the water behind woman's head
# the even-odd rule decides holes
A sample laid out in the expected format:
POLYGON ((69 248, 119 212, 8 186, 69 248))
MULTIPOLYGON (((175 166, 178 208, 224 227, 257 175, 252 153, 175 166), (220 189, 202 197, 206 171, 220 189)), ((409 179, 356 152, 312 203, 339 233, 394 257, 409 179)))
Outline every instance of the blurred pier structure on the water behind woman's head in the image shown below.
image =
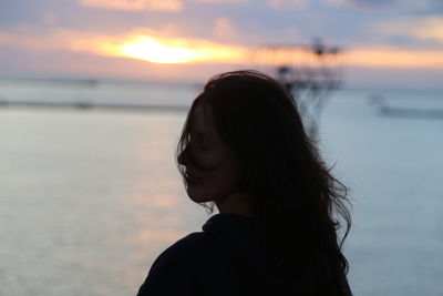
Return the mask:
POLYGON ((342 53, 340 47, 315 39, 311 44, 267 44, 257 48, 251 59, 270 68, 270 74, 292 93, 307 131, 317 137, 321 112, 343 83, 342 53))

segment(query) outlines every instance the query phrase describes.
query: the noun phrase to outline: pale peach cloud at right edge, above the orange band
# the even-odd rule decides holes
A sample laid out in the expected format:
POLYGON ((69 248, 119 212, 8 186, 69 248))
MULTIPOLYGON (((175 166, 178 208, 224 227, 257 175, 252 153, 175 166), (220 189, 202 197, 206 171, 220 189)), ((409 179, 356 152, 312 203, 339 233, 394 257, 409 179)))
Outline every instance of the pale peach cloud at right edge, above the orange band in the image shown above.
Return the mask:
POLYGON ((384 35, 406 37, 443 44, 443 17, 406 18, 378 24, 374 30, 384 35))

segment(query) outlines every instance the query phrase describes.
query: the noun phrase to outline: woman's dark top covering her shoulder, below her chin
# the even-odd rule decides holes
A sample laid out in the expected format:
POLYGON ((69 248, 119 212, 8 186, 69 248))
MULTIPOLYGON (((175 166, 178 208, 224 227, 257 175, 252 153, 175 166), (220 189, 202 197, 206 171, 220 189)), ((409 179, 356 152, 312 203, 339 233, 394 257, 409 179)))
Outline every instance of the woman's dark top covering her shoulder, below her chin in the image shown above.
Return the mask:
POLYGON ((291 282, 266 268, 254 218, 216 214, 157 257, 137 296, 289 295, 291 282))

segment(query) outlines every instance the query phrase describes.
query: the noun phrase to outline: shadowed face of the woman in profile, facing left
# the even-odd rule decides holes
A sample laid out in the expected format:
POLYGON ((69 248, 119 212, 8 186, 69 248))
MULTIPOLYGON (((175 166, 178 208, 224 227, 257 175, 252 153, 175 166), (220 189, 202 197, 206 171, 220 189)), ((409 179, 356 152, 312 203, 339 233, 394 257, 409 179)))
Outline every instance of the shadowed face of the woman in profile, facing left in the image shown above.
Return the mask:
POLYGON ((190 116, 190 141, 178 157, 185 166, 186 191, 194 202, 214 201, 220 211, 237 196, 240 164, 217 132, 208 105, 199 103, 190 116))

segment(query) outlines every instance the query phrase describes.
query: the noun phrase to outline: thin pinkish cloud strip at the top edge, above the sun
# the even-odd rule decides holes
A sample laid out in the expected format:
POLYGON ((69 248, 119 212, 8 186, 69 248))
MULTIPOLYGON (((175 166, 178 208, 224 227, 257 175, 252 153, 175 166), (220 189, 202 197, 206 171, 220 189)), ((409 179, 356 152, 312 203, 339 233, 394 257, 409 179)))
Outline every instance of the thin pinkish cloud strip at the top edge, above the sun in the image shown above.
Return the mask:
POLYGON ((182 11, 179 0, 78 0, 79 4, 87 8, 125 10, 125 11, 182 11))

